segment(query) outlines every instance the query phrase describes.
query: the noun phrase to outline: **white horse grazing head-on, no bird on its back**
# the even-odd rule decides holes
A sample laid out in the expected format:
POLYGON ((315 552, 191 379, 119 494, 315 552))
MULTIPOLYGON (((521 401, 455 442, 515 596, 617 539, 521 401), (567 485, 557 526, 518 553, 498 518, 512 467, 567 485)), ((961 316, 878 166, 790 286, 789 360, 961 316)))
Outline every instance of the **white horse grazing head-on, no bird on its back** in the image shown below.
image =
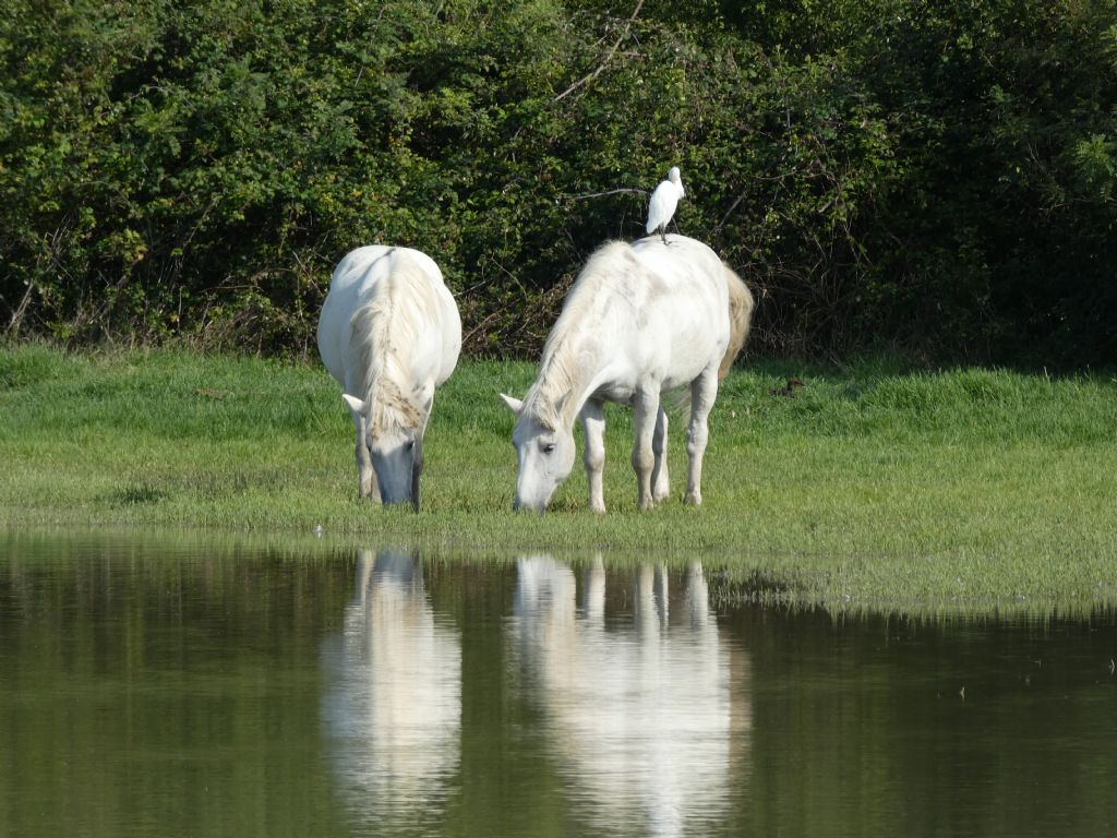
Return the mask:
POLYGON ((362 497, 419 508, 435 388, 460 351, 458 306, 429 256, 372 245, 338 263, 318 318, 318 352, 353 416, 362 497))

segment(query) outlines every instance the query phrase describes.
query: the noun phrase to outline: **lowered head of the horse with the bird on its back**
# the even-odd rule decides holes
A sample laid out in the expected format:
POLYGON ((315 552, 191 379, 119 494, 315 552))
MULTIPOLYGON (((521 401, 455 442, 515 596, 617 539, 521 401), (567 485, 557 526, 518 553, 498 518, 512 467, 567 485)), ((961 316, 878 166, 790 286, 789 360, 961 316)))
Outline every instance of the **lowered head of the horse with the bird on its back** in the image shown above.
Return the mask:
POLYGON ((500 393, 504 403, 516 415, 512 444, 516 447, 519 470, 516 475, 515 510, 543 513, 558 484, 574 467, 574 434, 570 428, 555 429, 540 420, 524 402, 500 393))

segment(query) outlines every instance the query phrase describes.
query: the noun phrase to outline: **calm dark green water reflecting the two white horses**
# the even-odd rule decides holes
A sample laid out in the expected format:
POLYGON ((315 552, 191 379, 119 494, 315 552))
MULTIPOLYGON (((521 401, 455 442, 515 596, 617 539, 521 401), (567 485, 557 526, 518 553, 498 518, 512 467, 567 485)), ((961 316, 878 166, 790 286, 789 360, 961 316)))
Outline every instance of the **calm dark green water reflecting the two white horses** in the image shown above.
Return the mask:
POLYGON ((1113 613, 844 618, 719 580, 0 535, 0 835, 1113 831, 1113 613))

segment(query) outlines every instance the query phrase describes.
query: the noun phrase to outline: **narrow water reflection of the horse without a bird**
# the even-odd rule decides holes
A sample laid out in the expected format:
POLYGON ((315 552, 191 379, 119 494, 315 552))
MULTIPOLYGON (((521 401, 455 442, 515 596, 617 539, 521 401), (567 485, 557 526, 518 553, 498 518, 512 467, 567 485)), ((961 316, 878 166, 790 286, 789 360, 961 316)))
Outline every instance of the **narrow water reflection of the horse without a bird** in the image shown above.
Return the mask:
POLYGON ((376 829, 439 822, 460 764, 461 644, 435 618, 419 561, 362 552, 344 631, 323 651, 346 803, 376 829))

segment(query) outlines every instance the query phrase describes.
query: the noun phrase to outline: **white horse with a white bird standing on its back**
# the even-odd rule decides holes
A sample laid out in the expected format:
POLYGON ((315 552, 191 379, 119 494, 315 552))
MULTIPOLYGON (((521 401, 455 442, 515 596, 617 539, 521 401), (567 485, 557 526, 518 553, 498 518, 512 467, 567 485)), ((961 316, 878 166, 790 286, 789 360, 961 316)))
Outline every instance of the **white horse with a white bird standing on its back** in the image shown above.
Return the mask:
POLYGON ((667 413, 660 393, 690 388, 686 502, 701 503, 707 417, 717 384, 748 333, 753 297, 706 245, 684 236, 596 250, 571 288, 543 349, 540 374, 516 413, 516 508, 543 512, 574 466, 574 418, 585 436, 590 508, 604 512, 604 402, 634 410, 632 467, 640 508, 670 494, 667 413))

